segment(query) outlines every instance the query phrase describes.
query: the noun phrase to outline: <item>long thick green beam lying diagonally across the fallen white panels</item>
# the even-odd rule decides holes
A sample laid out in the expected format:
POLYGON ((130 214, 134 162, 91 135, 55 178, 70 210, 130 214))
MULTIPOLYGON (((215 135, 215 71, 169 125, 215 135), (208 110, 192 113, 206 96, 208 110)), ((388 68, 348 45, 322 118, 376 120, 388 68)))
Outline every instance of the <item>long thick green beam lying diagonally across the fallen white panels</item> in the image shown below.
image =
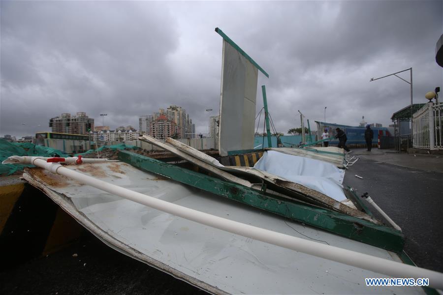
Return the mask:
POLYGON ((259 190, 158 161, 126 150, 119 159, 143 171, 199 188, 230 200, 272 212, 334 234, 393 252, 401 252, 403 234, 392 228, 352 217, 337 211, 311 206, 297 200, 266 195, 259 190))

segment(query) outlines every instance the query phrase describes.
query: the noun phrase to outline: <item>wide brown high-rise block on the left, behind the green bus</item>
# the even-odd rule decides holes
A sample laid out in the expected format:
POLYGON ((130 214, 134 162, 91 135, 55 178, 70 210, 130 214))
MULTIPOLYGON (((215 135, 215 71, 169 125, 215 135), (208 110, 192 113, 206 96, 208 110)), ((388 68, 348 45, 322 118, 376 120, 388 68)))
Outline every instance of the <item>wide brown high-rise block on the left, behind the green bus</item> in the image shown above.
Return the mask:
POLYGON ((91 130, 94 130, 94 119, 89 118, 84 112, 79 112, 75 116, 64 113, 49 120, 52 132, 59 133, 88 134, 87 124, 91 124, 91 130))

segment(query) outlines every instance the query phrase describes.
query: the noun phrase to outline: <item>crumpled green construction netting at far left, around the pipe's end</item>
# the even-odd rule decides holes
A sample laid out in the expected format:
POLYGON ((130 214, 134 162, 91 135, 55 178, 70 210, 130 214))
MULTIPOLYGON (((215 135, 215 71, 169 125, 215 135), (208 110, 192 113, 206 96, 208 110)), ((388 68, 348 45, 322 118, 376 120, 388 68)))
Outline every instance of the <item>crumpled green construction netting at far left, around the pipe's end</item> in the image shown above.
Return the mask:
MULTIPOLYGON (((41 157, 69 157, 63 151, 55 148, 46 148, 36 146, 32 143, 11 143, 0 139, 0 163, 10 156, 41 156, 41 157)), ((21 164, 0 164, 0 175, 11 175, 16 171, 23 170, 25 167, 34 167, 33 165, 21 164)))

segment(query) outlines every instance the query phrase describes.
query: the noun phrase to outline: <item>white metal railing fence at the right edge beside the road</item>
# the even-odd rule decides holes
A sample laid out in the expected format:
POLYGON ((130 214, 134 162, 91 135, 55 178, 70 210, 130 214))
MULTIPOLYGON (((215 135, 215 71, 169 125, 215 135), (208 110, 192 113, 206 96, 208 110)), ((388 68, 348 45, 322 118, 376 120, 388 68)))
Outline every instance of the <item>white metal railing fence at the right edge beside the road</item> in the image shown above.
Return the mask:
POLYGON ((427 103, 412 118, 413 148, 443 149, 443 103, 427 103))

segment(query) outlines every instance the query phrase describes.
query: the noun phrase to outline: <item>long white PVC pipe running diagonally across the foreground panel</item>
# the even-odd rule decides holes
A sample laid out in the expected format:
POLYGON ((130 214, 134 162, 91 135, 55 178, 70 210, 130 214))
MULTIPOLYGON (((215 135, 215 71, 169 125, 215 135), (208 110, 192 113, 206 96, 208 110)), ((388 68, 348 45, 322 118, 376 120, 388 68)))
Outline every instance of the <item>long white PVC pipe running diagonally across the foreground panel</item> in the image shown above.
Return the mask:
POLYGON ((70 170, 63 167, 59 163, 47 163, 42 159, 35 158, 31 164, 45 168, 52 173, 58 173, 65 177, 70 177, 85 184, 89 184, 93 187, 118 195, 136 203, 180 216, 207 226, 221 229, 223 231, 250 237, 287 249, 292 249, 309 255, 314 255, 316 257, 347 264, 349 266, 355 266, 377 273, 383 273, 394 278, 428 278, 429 287, 443 290, 443 273, 437 271, 410 266, 335 246, 317 243, 295 236, 269 231, 187 207, 182 207, 70 170))

